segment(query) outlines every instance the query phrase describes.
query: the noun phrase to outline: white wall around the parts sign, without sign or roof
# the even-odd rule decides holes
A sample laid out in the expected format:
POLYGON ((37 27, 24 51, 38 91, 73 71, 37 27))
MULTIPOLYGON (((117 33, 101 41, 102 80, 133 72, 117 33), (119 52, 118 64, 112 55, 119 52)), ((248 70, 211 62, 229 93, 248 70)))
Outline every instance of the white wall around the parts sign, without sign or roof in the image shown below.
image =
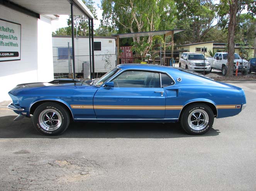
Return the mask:
POLYGON ((53 57, 50 19, 41 16, 39 20, 3 5, 0 18, 21 24, 20 60, 0 62, 0 101, 3 101, 11 100, 8 91, 17 84, 52 80, 53 57), (51 66, 47 73, 45 66, 51 66))

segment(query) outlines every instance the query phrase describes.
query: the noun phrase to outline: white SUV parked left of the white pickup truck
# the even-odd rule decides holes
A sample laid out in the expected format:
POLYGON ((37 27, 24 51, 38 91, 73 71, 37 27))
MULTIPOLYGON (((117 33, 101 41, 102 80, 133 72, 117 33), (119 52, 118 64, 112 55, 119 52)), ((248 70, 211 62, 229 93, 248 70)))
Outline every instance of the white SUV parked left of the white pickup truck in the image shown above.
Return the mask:
POLYGON ((198 72, 203 72, 204 70, 205 74, 211 71, 209 61, 201 53, 194 52, 182 53, 179 60, 179 67, 198 72))

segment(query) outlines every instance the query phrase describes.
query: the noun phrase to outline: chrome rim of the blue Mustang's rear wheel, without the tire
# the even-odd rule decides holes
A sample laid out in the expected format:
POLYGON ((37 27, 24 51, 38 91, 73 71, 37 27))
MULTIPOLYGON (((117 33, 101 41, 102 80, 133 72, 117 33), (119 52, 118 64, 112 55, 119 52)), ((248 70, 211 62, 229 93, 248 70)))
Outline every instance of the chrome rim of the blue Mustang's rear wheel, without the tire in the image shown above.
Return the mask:
POLYGON ((192 111, 188 116, 188 125, 193 130, 204 129, 209 122, 209 116, 206 111, 198 109, 192 111))

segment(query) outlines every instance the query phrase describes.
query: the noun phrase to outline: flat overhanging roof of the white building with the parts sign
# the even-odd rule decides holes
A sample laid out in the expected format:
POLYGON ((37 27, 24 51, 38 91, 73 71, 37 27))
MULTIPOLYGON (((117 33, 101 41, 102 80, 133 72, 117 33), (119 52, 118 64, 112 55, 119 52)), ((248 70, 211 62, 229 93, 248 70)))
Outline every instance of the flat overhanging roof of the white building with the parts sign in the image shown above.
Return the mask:
POLYGON ((39 15, 70 15, 70 3, 73 3, 74 15, 85 15, 94 18, 92 12, 81 0, 3 0, 2 4, 16 4, 39 15))

